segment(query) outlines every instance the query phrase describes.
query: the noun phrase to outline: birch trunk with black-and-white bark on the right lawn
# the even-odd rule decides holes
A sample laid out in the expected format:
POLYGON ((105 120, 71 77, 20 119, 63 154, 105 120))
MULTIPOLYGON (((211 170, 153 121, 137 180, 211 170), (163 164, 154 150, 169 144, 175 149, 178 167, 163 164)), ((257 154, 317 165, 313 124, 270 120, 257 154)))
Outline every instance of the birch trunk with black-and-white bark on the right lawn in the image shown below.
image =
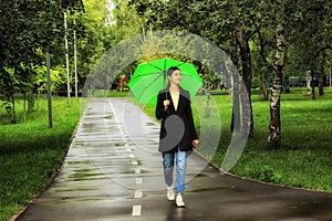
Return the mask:
POLYGON ((284 65, 284 29, 281 24, 277 25, 277 52, 274 56, 274 77, 270 103, 270 125, 268 145, 269 148, 281 146, 281 118, 280 118, 280 97, 282 69, 284 65))

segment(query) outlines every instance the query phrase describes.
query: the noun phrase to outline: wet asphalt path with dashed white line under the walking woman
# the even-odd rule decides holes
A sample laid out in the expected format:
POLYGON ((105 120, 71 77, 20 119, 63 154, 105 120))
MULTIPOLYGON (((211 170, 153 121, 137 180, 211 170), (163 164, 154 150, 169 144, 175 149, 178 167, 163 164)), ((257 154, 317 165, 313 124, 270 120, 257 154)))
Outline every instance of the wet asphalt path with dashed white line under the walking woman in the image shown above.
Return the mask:
POLYGON ((220 173, 193 152, 186 208, 167 201, 159 125, 125 98, 94 98, 52 185, 17 219, 332 220, 332 193, 220 173))

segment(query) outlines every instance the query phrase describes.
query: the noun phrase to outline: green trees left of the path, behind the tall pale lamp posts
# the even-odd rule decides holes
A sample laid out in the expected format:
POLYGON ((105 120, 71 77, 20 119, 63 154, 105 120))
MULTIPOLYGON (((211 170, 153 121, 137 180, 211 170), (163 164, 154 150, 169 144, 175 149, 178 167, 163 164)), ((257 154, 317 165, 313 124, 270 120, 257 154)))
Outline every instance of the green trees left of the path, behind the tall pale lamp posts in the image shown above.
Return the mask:
MULTIPOLYGON (((71 82, 73 81, 73 31, 77 39, 77 73, 81 88, 95 61, 105 51, 105 2, 96 0, 13 0, 0 2, 0 97, 9 122, 17 123, 15 98, 24 101, 24 118, 33 109, 33 94, 45 91, 45 52, 51 54, 52 91, 66 83, 64 12, 71 82), (100 7, 100 11, 96 8, 100 7), (73 21, 75 20, 75 25, 73 21)), ((112 39, 112 38, 111 38, 112 39)), ((110 45, 107 45, 110 48, 110 45)))

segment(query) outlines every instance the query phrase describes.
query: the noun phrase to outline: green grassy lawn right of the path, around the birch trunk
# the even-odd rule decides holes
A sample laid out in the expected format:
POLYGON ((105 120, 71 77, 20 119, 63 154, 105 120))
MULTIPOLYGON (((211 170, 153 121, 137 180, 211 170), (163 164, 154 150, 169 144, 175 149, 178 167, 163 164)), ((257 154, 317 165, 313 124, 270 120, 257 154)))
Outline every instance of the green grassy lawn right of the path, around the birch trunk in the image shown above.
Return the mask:
MULTIPOLYGON (((314 101, 305 96, 305 88, 291 88, 290 94, 282 94, 282 147, 273 150, 267 149, 270 102, 261 101, 259 93, 253 93, 255 138, 247 141, 231 173, 282 186, 332 191, 332 90, 324 88, 324 96, 317 96, 314 101)), ((207 145, 200 146, 198 151, 220 167, 231 139, 231 101, 228 94, 212 98, 220 114, 220 143, 217 151, 207 151, 207 145)), ((196 97, 194 103, 199 99, 196 97)), ((201 105, 206 105, 204 99, 201 105)), ((154 107, 144 109, 154 116, 154 107)), ((194 115, 197 126, 204 117, 195 109, 194 115)))

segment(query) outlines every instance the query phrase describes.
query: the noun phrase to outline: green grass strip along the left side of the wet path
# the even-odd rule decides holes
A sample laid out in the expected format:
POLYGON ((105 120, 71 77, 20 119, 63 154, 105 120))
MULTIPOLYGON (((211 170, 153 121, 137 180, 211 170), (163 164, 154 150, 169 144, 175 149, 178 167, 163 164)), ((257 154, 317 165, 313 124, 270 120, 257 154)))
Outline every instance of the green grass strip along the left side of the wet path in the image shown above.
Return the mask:
POLYGON ((0 109, 0 220, 9 220, 50 181, 62 164, 80 119, 81 105, 72 98, 53 98, 53 128, 49 128, 46 99, 35 101, 35 109, 23 120, 18 101, 18 124, 8 124, 0 109))

